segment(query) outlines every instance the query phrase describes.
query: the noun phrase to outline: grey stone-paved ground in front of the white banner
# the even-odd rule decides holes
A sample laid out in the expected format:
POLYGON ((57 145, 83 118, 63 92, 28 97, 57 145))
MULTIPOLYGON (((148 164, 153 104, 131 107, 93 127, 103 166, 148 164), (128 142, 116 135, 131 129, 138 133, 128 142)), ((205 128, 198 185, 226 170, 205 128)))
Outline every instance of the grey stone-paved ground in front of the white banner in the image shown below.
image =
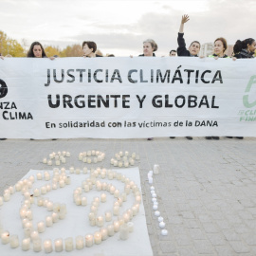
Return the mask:
POLYGON ((8 139, 0 141, 0 193, 29 169, 46 169, 41 161, 52 151, 69 151, 72 156, 65 165, 69 168, 84 166, 77 156, 91 149, 106 153, 106 168, 120 150, 140 155, 138 167, 155 256, 256 255, 255 137, 8 139), (154 186, 168 236, 160 235, 152 210, 147 173, 154 164, 161 168, 154 186))

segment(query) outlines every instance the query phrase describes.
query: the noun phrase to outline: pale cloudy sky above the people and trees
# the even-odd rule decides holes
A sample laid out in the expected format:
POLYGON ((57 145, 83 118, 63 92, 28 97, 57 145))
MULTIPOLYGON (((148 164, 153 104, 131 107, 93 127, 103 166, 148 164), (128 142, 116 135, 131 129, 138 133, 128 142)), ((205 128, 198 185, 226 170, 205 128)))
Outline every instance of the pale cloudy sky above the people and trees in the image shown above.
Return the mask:
POLYGON ((255 38, 256 0, 0 0, 0 30, 27 46, 82 45, 94 41, 103 54, 137 56, 143 41, 154 39, 156 56, 177 47, 182 14, 189 14, 187 45, 225 37, 255 38))

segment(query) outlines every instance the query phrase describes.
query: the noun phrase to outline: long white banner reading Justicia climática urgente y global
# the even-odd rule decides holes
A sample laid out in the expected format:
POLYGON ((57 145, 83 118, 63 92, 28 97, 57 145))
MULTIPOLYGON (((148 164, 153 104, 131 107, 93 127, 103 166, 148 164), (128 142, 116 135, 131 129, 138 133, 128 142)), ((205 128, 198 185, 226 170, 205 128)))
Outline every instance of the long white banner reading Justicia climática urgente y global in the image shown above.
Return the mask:
POLYGON ((6 58, 0 137, 256 136, 256 60, 6 58))

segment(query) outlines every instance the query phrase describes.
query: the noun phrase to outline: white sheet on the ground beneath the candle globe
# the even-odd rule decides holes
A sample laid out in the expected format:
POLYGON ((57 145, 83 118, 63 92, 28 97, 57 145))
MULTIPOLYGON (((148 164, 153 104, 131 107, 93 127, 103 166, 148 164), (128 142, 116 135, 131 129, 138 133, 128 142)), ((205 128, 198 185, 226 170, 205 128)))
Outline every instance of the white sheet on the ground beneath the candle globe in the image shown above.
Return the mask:
MULTIPOLYGON (((138 168, 129 168, 129 169, 117 169, 115 170, 118 173, 126 175, 130 180, 133 180, 139 190, 140 187, 140 177, 138 168)), ((30 175, 36 176, 40 172, 44 174, 44 171, 30 170, 24 178, 29 177, 30 175)), ((52 175, 53 172, 49 171, 52 175)), ((101 245, 94 245, 93 247, 84 247, 82 250, 74 249, 71 252, 55 252, 54 251, 54 240, 57 238, 73 237, 73 242, 75 246, 75 238, 78 235, 85 236, 86 234, 93 234, 95 231, 99 230, 98 227, 91 227, 89 225, 88 213, 90 211, 90 205, 95 196, 101 196, 101 192, 96 191, 95 189, 90 192, 82 192, 82 195, 87 197, 87 206, 76 206, 73 202, 73 191, 77 187, 82 186, 82 181, 89 177, 89 174, 69 174, 69 171, 66 171, 67 175, 71 176, 71 184, 66 185, 62 189, 53 190, 47 192, 44 197, 49 198, 53 203, 65 203, 67 208, 67 214, 64 220, 59 220, 59 222, 54 223, 52 227, 46 228, 44 233, 40 234, 42 238, 42 244, 45 239, 51 239, 53 243, 53 252, 50 255, 70 255, 70 256, 151 256, 153 255, 151 244, 149 241, 148 230, 146 225, 145 211, 143 206, 143 200, 141 200, 139 213, 132 220, 134 223, 134 232, 129 234, 128 240, 120 240, 119 232, 115 233, 114 236, 109 237, 107 240, 102 241, 101 245)), ((124 183, 119 180, 113 179, 101 179, 102 182, 112 183, 120 192, 123 192, 124 183)), ((33 189, 44 186, 49 181, 36 180, 33 184, 33 189)), ((113 203, 115 198, 110 192, 105 192, 107 195, 107 201, 101 203, 98 215, 104 215, 105 210, 113 211, 113 203)), ((46 255, 46 252, 43 250, 41 252, 34 252, 32 245, 28 251, 23 251, 21 248, 21 242, 24 238, 24 230, 22 228, 21 219, 19 216, 19 209, 23 200, 23 196, 20 192, 15 192, 11 195, 9 202, 4 203, 0 207, 0 217, 1 217, 1 226, 4 230, 9 230, 11 234, 17 234, 20 240, 20 247, 12 249, 8 245, 0 244, 0 255, 3 256, 16 256, 16 255, 46 255)), ((132 207, 135 202, 135 197, 133 193, 127 195, 127 201, 123 203, 121 211, 128 210, 132 207)), ((33 211, 33 226, 36 227, 37 222, 45 221, 46 216, 50 215, 52 211, 47 211, 44 207, 38 207, 36 204, 33 204, 31 207, 33 211)), ((117 217, 115 216, 116 219, 117 217)), ((111 224, 111 222, 105 222, 104 226, 111 224)))

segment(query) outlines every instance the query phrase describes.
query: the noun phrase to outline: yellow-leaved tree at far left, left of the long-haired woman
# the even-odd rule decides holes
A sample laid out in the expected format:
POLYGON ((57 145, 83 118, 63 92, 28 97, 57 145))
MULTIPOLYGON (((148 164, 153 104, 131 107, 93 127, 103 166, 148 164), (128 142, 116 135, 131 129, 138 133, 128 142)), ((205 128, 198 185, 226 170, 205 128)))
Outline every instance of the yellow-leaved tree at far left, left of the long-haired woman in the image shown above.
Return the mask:
POLYGON ((26 52, 17 40, 7 37, 7 34, 0 31, 0 52, 3 56, 10 54, 12 57, 25 57, 26 52))

